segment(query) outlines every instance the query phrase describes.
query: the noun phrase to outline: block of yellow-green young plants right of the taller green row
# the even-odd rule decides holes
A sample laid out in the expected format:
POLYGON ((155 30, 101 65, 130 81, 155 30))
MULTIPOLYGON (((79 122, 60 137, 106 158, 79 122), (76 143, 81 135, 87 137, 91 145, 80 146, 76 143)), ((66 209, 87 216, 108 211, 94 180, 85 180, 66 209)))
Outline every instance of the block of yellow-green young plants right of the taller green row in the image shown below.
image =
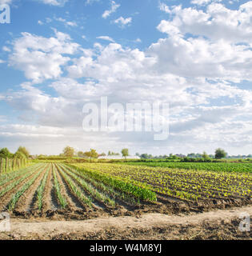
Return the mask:
POLYGON ((250 197, 252 177, 250 174, 228 174, 209 171, 171 170, 147 166, 124 166, 118 164, 78 164, 82 168, 100 171, 106 176, 132 182, 155 192, 177 198, 250 197))

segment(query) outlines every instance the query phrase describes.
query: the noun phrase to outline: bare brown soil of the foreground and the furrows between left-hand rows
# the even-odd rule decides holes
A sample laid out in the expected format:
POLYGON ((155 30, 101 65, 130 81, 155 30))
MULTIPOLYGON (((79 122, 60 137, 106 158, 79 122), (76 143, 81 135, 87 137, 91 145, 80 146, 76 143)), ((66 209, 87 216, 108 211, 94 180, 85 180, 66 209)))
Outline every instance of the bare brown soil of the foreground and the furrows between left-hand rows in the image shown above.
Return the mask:
MULTIPOLYGON (((189 202, 157 194, 158 202, 153 203, 134 204, 115 198, 114 207, 92 198, 94 207, 90 208, 74 195, 62 171, 55 169, 68 202, 62 209, 55 194, 52 166, 39 168, 41 174, 9 212, 11 232, 0 233, 0 239, 251 239, 251 232, 238 230, 238 215, 246 212, 252 216, 249 197, 189 202), (46 171, 42 210, 38 210, 36 191, 46 171)), ((38 171, 34 168, 29 177, 0 198, 1 211, 7 211, 12 196, 38 171)), ((75 185, 91 197, 78 182, 75 185)))

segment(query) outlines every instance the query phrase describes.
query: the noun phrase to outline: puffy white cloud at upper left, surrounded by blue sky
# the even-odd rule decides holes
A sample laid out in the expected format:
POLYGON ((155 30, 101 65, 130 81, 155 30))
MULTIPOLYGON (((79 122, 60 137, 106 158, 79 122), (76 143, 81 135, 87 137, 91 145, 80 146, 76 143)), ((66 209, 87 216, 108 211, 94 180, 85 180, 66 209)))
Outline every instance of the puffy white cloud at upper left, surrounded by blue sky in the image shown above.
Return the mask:
POLYGON ((61 66, 70 61, 66 54, 74 54, 78 44, 70 42, 70 36, 55 31, 56 38, 43 38, 29 33, 14 41, 14 51, 10 55, 10 65, 25 72, 33 82, 58 78, 61 66), (64 54, 64 55, 63 55, 64 54))

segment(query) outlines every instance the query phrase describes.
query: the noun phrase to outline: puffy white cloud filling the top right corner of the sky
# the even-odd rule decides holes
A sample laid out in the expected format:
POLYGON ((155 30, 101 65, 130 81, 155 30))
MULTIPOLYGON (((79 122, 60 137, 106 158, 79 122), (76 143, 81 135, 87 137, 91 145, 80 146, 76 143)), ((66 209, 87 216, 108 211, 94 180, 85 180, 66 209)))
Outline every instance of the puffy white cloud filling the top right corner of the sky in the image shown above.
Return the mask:
POLYGON ((167 34, 194 34, 216 41, 246 42, 252 40, 252 2, 230 10, 219 3, 211 3, 206 11, 176 6, 171 10, 173 18, 162 20, 158 29, 167 34))

